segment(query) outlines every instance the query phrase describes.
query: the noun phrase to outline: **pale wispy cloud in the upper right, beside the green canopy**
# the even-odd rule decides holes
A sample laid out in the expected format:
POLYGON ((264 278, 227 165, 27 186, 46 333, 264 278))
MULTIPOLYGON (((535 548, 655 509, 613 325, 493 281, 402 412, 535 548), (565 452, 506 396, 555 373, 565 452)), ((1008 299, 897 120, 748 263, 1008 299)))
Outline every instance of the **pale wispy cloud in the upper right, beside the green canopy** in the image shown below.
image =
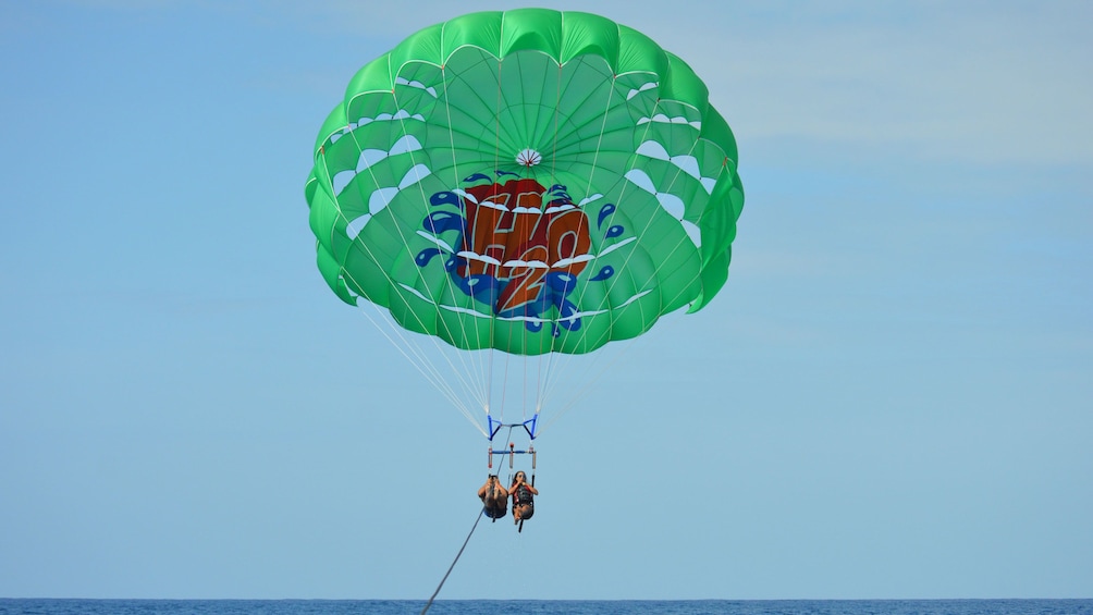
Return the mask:
POLYGON ((721 60, 698 48, 692 63, 751 139, 1093 164, 1093 42, 1078 25, 1093 17, 1089 5, 915 7, 900 20, 841 9, 751 15, 730 28, 721 60))

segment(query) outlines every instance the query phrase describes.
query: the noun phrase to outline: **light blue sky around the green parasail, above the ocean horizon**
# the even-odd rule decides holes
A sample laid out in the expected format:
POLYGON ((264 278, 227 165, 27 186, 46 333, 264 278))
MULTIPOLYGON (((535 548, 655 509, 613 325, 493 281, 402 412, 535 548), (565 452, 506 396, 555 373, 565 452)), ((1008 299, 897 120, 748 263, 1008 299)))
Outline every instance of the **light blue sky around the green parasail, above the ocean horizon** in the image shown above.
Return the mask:
MULTIPOLYGON (((0 595, 407 598, 485 441, 314 265, 353 72, 515 3, 0 4, 0 595)), ((587 1, 740 145, 729 283, 442 598, 1093 596, 1084 2, 587 1)))

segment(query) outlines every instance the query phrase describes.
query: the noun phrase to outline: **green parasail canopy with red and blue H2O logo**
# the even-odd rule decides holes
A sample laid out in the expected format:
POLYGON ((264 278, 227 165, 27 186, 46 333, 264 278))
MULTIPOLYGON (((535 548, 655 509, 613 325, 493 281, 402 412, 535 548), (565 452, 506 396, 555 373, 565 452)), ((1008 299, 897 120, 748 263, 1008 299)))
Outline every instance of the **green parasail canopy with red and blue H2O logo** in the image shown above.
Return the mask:
POLYGON ((702 308, 743 206, 736 140, 682 60, 541 9, 463 15, 367 63, 305 192, 342 300, 516 355, 588 353, 702 308))

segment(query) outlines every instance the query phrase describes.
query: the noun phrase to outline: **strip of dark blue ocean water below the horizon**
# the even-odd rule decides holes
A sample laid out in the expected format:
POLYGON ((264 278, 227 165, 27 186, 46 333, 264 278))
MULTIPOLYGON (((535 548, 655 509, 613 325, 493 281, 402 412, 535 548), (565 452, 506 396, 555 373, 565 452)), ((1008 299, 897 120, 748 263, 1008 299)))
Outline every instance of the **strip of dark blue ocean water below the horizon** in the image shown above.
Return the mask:
MULTIPOLYGON (((0 615, 404 615, 423 600, 0 599, 0 615)), ((1093 615, 1093 600, 438 600, 433 615, 1093 615)))

